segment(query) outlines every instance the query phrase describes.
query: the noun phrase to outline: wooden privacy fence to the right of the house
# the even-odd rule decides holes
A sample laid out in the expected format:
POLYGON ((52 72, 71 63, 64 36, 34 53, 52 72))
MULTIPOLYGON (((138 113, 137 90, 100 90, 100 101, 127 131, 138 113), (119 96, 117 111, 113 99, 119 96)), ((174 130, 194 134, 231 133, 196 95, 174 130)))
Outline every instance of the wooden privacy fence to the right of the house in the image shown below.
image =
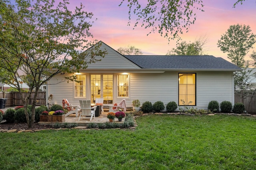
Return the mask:
MULTIPOLYGON (((235 103, 242 102, 240 94, 235 93, 235 103)), ((244 99, 244 107, 247 113, 256 113, 256 95, 250 95, 244 99)))

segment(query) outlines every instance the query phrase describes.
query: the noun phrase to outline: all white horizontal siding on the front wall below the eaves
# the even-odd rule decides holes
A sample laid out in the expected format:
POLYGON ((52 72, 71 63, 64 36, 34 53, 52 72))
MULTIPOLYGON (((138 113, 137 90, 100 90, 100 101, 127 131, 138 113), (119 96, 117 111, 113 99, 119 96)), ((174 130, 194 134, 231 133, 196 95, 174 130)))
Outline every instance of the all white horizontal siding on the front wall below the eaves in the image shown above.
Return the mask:
MULTIPOLYGON (((180 71, 183 72, 184 71, 180 71)), ((132 100, 138 99, 141 104, 146 101, 154 102, 162 101, 164 104, 174 101, 178 104, 178 73, 174 71, 166 71, 164 73, 130 73, 130 93, 126 98, 127 106, 132 105, 132 100)), ((207 109, 211 100, 221 103, 224 100, 234 104, 234 91, 232 72, 220 71, 204 71, 196 73, 196 108, 207 109)), ((84 74, 84 73, 83 73, 84 74)), ((122 98, 117 97, 116 79, 114 74, 113 84, 113 103, 118 103, 122 98)), ((87 100, 90 100, 90 82, 87 74, 87 100)), ((62 99, 66 98, 74 105, 79 104, 79 98, 74 98, 74 83, 61 82, 64 75, 57 75, 49 82, 50 88, 48 94, 53 95, 53 102, 62 105, 62 99), (61 83, 59 83, 61 82, 61 83), (57 84, 58 83, 58 84, 57 84)), ((48 96, 48 95, 47 95, 48 96)))

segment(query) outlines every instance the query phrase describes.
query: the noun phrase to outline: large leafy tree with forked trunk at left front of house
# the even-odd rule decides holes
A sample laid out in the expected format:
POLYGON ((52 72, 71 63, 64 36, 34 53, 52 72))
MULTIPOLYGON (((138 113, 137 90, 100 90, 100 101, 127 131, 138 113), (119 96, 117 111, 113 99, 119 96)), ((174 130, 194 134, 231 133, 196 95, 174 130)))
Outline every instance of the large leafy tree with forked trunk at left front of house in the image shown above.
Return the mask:
POLYGON ((40 86, 56 74, 85 69, 98 61, 96 56, 106 53, 99 50, 100 43, 88 40, 92 39, 89 29, 93 14, 85 12, 82 4, 72 12, 68 4, 68 0, 58 4, 54 0, 0 0, 0 79, 19 92, 24 92, 22 83, 30 87, 23 100, 29 127, 33 126, 40 86), (32 92, 35 98, 29 119, 27 106, 32 92))

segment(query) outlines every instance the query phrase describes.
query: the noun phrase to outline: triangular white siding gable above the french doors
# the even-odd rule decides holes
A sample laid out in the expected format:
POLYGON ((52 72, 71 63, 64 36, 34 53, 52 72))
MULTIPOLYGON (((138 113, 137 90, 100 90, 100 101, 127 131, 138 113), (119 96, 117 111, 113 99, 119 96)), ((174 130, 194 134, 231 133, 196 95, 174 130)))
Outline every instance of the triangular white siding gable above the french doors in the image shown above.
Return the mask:
POLYGON ((88 69, 139 68, 136 64, 132 63, 131 61, 126 59, 124 56, 120 55, 118 52, 114 51, 104 43, 102 43, 102 46, 100 47, 100 49, 101 50, 106 49, 108 51, 108 54, 104 58, 96 57, 96 59, 101 59, 101 61, 88 65, 88 69))

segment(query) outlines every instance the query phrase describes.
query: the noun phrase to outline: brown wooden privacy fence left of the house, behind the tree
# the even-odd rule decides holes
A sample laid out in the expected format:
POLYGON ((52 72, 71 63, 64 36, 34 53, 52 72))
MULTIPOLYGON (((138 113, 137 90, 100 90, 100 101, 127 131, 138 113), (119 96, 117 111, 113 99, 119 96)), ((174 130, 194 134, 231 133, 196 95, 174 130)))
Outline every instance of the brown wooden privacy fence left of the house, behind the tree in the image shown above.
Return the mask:
MULTIPOLYGON (((22 98, 25 94, 20 95, 18 92, 0 92, 0 98, 5 98, 5 107, 22 106, 22 98)), ((32 105, 35 94, 31 94, 29 104, 32 105)), ((36 106, 46 105, 46 92, 38 92, 36 106)))

